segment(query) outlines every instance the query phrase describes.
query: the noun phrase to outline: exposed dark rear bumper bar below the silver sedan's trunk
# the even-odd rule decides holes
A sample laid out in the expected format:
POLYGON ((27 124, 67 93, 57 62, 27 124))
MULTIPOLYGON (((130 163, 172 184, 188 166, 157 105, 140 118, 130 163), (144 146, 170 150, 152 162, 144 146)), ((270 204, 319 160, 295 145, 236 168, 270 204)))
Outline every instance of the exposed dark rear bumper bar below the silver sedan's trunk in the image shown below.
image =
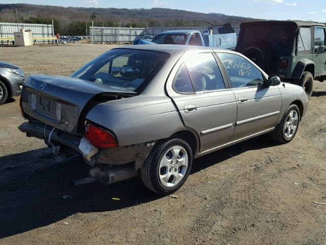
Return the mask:
POLYGON ((50 139, 51 142, 64 144, 72 150, 82 154, 85 161, 90 165, 95 164, 95 159, 93 157, 99 150, 83 136, 66 133, 62 130, 53 129, 51 126, 46 126, 45 124, 34 121, 24 122, 18 129, 26 133, 28 137, 35 137, 46 141, 50 139))

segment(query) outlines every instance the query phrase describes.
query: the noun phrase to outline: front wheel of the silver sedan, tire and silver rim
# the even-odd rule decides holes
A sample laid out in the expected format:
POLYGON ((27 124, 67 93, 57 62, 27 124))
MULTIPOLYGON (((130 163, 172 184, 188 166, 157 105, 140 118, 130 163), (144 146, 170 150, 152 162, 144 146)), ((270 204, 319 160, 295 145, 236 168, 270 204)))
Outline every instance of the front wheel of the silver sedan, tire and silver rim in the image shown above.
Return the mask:
POLYGON ((300 110, 297 105, 290 105, 285 111, 280 123, 270 133, 271 138, 280 143, 290 142, 299 128, 300 118, 300 110))

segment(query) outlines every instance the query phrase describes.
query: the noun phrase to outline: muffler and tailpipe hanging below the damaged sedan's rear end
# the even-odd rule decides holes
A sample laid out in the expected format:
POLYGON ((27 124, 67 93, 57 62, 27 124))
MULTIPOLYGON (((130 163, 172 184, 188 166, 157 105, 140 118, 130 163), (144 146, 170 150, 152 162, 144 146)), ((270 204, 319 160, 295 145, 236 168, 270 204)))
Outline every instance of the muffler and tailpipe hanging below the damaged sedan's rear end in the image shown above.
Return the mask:
POLYGON ((139 170, 135 170, 132 164, 107 166, 104 170, 94 167, 90 170, 92 177, 87 177, 70 182, 72 186, 83 185, 93 182, 100 182, 104 185, 110 185, 119 181, 131 179, 139 176, 139 170))

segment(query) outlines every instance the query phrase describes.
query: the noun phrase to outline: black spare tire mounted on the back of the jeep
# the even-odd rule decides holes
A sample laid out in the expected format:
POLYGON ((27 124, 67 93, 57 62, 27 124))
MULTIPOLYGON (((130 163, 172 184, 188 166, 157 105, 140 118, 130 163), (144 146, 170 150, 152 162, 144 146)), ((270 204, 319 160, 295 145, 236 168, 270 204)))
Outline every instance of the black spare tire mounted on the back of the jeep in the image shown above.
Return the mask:
POLYGON ((273 62, 273 51, 264 42, 254 42, 240 52, 255 62, 260 68, 268 71, 273 62))

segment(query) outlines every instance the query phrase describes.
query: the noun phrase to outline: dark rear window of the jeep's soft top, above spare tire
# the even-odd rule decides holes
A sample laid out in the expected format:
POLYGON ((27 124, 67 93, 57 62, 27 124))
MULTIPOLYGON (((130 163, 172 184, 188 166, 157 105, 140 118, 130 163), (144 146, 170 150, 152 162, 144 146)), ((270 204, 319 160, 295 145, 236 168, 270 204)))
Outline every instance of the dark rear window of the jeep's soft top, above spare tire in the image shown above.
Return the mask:
POLYGON ((292 23, 247 26, 242 32, 239 48, 261 41, 266 43, 276 55, 291 55, 295 32, 296 26, 292 23))

